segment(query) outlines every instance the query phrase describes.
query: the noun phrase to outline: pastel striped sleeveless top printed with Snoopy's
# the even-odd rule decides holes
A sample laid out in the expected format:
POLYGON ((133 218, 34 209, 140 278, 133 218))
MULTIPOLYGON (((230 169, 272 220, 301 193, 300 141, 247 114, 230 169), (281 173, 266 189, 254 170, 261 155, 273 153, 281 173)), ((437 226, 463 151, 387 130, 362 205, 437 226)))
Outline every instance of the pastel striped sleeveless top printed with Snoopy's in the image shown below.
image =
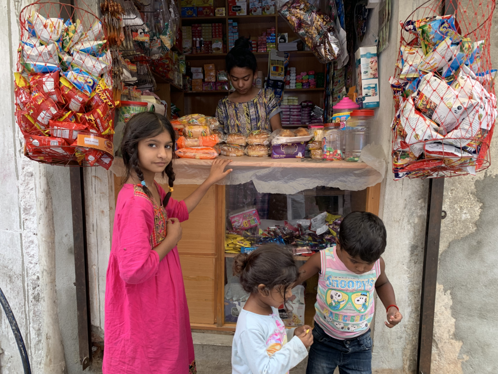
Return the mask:
POLYGON ((366 333, 373 319, 373 291, 380 275, 380 260, 371 271, 355 274, 339 259, 336 246, 320 252, 322 272, 318 278, 315 323, 339 340, 366 333))

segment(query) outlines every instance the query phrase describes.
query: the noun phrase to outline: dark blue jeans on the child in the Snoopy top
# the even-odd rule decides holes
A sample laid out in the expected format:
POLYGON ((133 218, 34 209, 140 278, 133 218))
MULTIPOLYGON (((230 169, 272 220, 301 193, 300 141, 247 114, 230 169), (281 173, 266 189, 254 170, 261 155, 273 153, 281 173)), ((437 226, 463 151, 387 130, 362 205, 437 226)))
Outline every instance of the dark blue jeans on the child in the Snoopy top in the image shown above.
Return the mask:
POLYGON ((332 338, 315 323, 306 374, 372 374, 370 329, 350 340, 332 338))

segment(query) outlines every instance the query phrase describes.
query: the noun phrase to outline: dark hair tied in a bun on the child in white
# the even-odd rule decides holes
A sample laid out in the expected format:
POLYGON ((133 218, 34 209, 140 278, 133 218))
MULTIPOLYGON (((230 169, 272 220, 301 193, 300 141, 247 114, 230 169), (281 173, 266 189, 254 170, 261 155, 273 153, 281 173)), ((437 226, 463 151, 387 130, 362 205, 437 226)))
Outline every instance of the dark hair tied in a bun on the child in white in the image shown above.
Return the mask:
POLYGON ((249 293, 258 292, 258 286, 264 284, 263 292, 267 295, 274 287, 284 286, 285 291, 297 280, 298 267, 292 257, 292 251, 277 244, 265 244, 253 252, 241 253, 235 257, 234 275, 240 276, 241 286, 249 293))

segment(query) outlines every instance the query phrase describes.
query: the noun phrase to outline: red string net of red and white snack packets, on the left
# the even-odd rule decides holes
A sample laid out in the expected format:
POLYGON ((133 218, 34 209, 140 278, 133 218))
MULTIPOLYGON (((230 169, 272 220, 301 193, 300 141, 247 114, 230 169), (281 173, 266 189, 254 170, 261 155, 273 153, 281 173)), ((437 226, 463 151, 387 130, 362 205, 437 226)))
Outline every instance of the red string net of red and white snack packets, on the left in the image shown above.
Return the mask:
POLYGON ((35 2, 19 14, 15 118, 29 159, 108 169, 113 160, 112 59, 88 8, 35 2))

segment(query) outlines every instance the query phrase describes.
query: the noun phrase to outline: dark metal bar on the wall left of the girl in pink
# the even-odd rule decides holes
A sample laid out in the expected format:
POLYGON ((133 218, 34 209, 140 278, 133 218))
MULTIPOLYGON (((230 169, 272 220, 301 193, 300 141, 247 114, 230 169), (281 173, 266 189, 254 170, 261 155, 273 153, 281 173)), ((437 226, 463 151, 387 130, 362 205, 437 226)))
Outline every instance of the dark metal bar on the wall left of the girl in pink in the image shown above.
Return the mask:
POLYGON ((88 260, 85 221, 85 189, 83 168, 69 168, 73 211, 74 268, 76 275, 76 306, 78 310, 78 343, 83 370, 92 362, 90 326, 90 294, 88 292, 88 260))

